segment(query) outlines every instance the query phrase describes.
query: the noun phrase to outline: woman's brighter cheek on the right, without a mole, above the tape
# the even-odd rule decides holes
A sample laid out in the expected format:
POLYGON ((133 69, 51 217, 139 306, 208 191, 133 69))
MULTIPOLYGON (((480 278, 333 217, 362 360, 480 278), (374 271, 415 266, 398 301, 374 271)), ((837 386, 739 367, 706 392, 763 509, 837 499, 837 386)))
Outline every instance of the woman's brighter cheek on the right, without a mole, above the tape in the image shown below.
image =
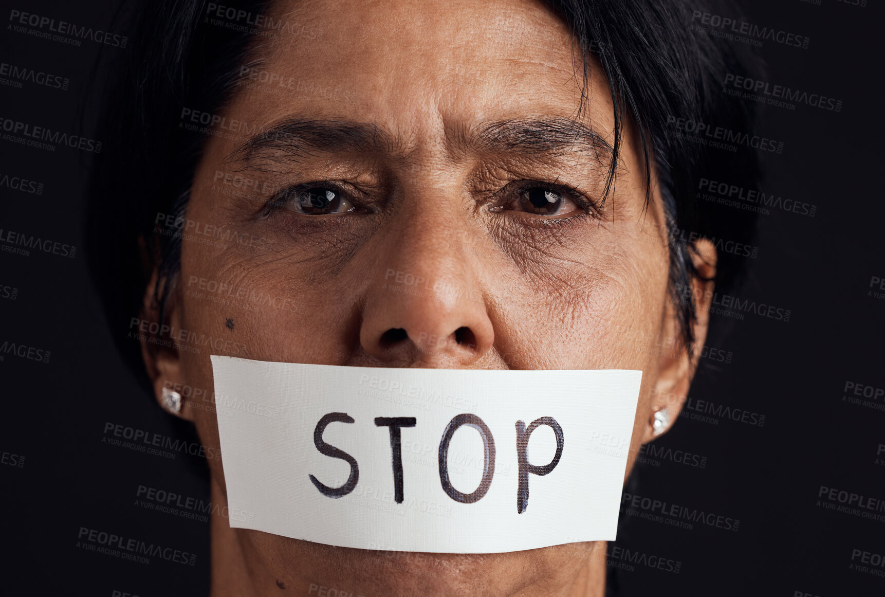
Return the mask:
POLYGON ((549 262, 543 275, 501 283, 504 361, 518 368, 650 371, 650 347, 666 300, 666 256, 600 239, 577 259, 549 262), (506 354, 511 355, 510 358, 506 354))

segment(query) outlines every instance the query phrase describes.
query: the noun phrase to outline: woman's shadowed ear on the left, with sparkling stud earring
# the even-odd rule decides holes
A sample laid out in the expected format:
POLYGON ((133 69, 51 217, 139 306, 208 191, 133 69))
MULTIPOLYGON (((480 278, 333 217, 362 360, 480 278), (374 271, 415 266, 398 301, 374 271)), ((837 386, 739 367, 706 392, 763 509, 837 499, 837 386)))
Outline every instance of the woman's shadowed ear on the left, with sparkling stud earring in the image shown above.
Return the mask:
MULTIPOLYGON (((181 365, 181 351, 179 343, 175 339, 178 331, 181 330, 181 296, 177 285, 173 286, 163 306, 163 321, 160 321, 159 304, 155 299, 157 296, 155 292, 160 283, 169 283, 169 281, 160 282, 158 271, 155 268, 150 277, 150 283, 144 291, 142 318, 149 322, 149 330, 156 330, 156 333, 141 337, 142 359, 144 359, 144 367, 147 369, 154 388, 154 398, 160 407, 163 407, 164 388, 179 392, 182 395, 181 411, 170 414, 193 421, 193 409, 189 400, 184 397, 183 388, 186 384, 181 365)), ((162 290, 161 288, 160 291, 162 290)))

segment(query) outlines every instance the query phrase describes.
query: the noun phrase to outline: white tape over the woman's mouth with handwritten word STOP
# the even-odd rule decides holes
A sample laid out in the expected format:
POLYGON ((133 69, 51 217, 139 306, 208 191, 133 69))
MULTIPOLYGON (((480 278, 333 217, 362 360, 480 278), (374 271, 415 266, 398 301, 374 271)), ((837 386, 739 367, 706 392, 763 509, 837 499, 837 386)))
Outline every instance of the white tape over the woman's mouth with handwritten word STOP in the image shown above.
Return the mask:
POLYGON ((450 554, 615 539, 642 371, 212 369, 232 527, 450 554))

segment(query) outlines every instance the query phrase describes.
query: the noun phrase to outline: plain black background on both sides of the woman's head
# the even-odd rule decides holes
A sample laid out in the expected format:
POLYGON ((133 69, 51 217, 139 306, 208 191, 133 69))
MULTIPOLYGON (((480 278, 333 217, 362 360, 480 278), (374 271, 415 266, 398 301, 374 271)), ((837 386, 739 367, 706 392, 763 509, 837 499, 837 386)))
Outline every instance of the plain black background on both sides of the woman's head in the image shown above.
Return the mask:
MULTIPOLYGON (((0 14, 8 22, 14 8, 102 27, 111 22, 113 5, 21 0, 4 3, 0 14)), ((682 416, 654 443, 658 457, 644 454, 658 465, 637 464, 626 490, 737 519, 740 526, 727 531, 696 522, 689 530, 622 511, 610 564, 629 563, 612 555, 617 546, 645 554, 645 562, 650 555, 680 562, 679 572, 642 562, 631 564, 633 570, 612 567, 609 589, 617 595, 883 595, 885 578, 850 565, 858 564, 854 549, 885 554, 885 522, 824 508, 818 494, 824 485, 885 500, 885 454, 876 454, 885 444, 885 400, 873 400, 879 409, 843 400, 846 382, 885 388, 885 299, 868 292, 873 276, 885 278, 885 20, 873 1, 741 5, 750 22, 811 40, 807 50, 766 41, 757 50, 767 64, 766 81, 841 99, 843 108, 762 109, 758 134, 784 141, 784 149, 763 156, 761 188, 817 210, 809 217, 773 208, 759 217, 758 257, 735 294, 789 309, 790 319, 714 315, 714 325, 734 323, 727 336, 708 342, 731 353, 731 362, 702 360, 689 392, 693 400, 765 415, 764 425, 682 416), (677 461, 684 453, 705 457, 704 468, 693 466, 696 460, 677 461)), ((67 90, 0 85, 0 116, 89 136, 97 93, 90 81, 101 46, 87 40, 75 48, 3 27, 0 61, 58 74, 70 84, 67 90)), ((104 140, 103 151, 113 151, 112 139, 104 140)), ((0 175, 44 183, 39 196, 0 187, 0 228, 81 246, 91 154, 0 140, 0 155, 0 175)), ((150 172, 137 164, 132 173, 133 184, 150 184, 150 172)), ((0 465, 0 582, 21 594, 206 594, 208 523, 135 505, 139 485, 208 500, 204 460, 187 454, 168 460, 103 442, 105 423, 167 436, 180 430, 114 352, 112 333, 125 332, 107 329, 83 255, 0 252, 3 286, 18 291, 14 300, 0 298, 0 343, 34 346, 51 357, 39 362, 7 353, 0 361, 0 452, 25 457, 20 468, 0 465), (84 551, 75 547, 81 527, 196 554, 196 565, 159 558, 145 565, 84 551)))

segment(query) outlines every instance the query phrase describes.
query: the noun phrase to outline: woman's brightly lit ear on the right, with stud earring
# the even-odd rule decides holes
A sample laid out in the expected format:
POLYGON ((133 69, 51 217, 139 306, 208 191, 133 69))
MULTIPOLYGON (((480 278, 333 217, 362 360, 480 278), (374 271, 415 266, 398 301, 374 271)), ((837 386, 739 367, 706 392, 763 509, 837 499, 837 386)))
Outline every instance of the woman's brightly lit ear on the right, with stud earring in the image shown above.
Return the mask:
POLYGON ((699 239, 688 247, 695 274, 691 276, 690 295, 688 291, 679 292, 678 300, 695 301, 695 321, 691 323, 694 341, 686 343, 681 339, 681 330, 677 312, 680 308, 675 297, 667 297, 664 322, 661 330, 664 342, 661 355, 658 357, 658 381, 651 391, 651 418, 643 435, 643 444, 654 439, 671 427, 682 410, 689 386, 695 376, 697 361, 701 348, 707 337, 710 322, 710 304, 713 296, 713 278, 716 276, 716 247, 705 239, 699 239), (654 415, 664 411, 668 424, 658 433, 654 430, 654 415))

